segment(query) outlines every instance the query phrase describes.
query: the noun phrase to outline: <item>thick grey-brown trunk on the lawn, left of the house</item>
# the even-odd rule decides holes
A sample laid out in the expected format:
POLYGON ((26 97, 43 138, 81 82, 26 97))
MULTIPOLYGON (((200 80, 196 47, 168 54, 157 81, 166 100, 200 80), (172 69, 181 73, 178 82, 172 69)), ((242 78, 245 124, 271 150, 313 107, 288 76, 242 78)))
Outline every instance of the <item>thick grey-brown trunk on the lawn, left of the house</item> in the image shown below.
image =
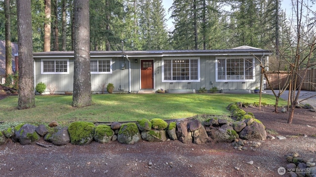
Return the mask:
POLYGON ((35 107, 31 0, 16 0, 19 47, 18 109, 35 107))

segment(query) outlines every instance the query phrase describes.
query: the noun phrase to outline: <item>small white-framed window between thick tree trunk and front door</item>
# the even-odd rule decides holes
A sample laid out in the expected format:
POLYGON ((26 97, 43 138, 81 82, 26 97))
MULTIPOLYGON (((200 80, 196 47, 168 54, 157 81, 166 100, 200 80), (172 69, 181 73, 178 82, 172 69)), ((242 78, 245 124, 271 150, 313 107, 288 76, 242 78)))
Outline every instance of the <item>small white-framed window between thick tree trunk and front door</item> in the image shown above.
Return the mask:
POLYGON ((91 74, 112 73, 111 63, 111 59, 90 60, 90 72, 91 74))

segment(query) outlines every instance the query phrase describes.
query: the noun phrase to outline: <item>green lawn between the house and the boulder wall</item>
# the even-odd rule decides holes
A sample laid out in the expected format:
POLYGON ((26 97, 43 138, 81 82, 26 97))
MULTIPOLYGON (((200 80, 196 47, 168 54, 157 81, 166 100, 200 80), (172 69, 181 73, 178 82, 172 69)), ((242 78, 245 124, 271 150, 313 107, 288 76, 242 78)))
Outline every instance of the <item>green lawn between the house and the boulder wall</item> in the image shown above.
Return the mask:
MULTIPOLYGON (((93 105, 71 106, 72 96, 38 95, 36 107, 18 110, 17 96, 0 100, 0 122, 135 121, 140 118, 177 119, 195 115, 230 115, 230 103, 258 102, 258 94, 104 94, 92 95, 93 105)), ((275 98, 263 95, 262 102, 275 98)), ((280 105, 286 105, 281 101, 280 105)))

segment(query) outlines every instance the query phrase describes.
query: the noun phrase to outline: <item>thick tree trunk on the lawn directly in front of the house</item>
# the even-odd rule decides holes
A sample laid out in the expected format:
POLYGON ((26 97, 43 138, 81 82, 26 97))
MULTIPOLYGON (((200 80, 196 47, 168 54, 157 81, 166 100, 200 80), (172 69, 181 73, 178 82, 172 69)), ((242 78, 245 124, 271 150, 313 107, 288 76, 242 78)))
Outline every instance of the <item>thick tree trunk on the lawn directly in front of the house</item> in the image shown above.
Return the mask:
POLYGON ((73 106, 91 105, 89 0, 75 0, 73 106))

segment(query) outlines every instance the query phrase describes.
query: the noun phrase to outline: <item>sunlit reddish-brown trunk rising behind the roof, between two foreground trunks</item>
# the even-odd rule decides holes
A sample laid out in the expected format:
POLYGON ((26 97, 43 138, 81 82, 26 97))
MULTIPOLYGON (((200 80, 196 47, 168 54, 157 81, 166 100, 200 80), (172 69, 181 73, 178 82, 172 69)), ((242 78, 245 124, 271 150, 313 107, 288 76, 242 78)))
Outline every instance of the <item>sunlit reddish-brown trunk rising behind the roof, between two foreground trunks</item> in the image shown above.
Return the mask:
POLYGON ((44 24, 44 52, 50 51, 50 14, 51 14, 51 1, 45 0, 45 17, 44 24))

